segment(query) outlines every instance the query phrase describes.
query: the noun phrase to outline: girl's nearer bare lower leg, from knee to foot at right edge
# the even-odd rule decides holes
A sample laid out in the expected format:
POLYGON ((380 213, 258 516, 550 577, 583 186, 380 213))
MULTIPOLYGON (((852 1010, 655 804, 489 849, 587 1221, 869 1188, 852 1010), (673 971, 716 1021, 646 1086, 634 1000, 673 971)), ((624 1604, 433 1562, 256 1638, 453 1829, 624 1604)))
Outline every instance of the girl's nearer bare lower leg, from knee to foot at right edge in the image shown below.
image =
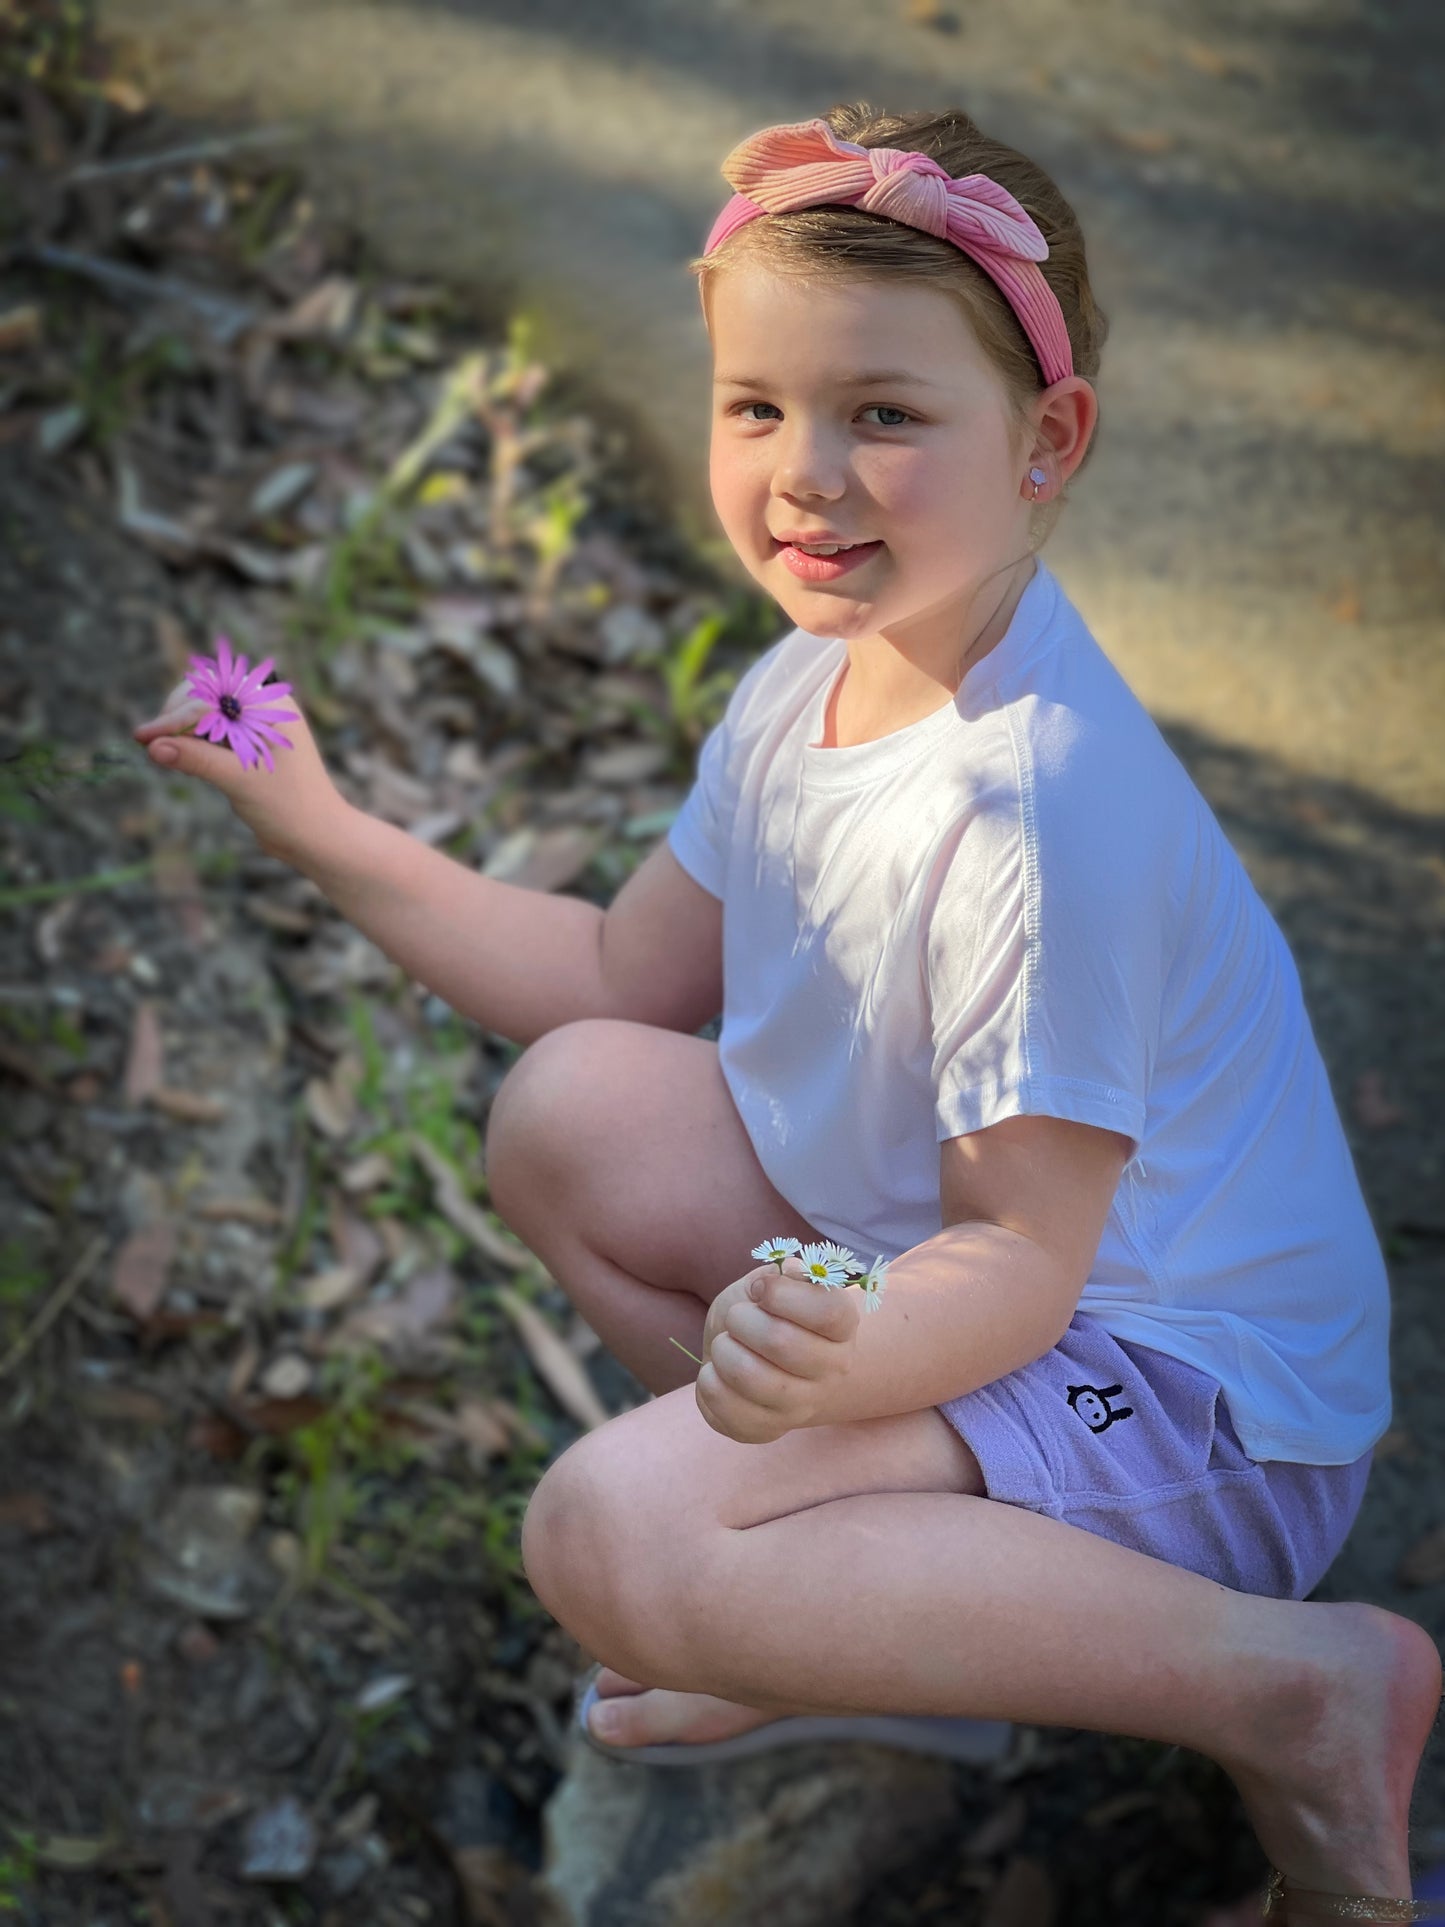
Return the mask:
MULTIPOLYGON (((855 1432, 813 1438, 832 1434, 859 1476, 855 1432)), ((524 1530, 538 1597, 659 1688, 613 1702, 632 1732, 609 1742, 699 1738, 696 1694, 705 1715, 722 1700, 769 1717, 956 1713, 1175 1742, 1231 1775, 1293 1883, 1410 1892, 1410 1790, 1441 1692, 1420 1626, 1233 1592, 973 1493, 871 1491, 721 1524, 719 1491, 767 1509, 784 1443, 722 1439, 684 1389, 545 1474, 524 1530)))

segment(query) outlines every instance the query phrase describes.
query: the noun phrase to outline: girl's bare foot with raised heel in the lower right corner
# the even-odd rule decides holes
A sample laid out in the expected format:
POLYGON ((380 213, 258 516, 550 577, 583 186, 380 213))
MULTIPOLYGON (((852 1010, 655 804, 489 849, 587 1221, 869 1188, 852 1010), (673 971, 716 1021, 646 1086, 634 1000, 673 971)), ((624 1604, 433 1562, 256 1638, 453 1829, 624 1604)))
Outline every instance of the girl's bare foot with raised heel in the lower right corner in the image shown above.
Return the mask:
MULTIPOLYGON (((1308 1682, 1272 1707, 1247 1757, 1216 1757, 1291 1887, 1408 1898, 1410 1794, 1441 1703, 1435 1642, 1378 1605, 1285 1603, 1308 1682)), ((1324 1917, 1287 1898, 1291 1927, 1324 1917)))

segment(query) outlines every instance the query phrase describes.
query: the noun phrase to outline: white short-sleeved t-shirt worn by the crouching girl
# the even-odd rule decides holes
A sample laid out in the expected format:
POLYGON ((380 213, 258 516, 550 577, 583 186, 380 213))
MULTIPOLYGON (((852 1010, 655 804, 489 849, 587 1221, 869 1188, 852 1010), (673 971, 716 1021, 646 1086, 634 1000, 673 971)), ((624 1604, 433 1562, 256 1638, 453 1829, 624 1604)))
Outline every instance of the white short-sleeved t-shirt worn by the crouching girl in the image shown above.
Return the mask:
POLYGON ((1391 1418, 1379 1241, 1295 960, 1185 767, 1042 561, 952 701, 825 750, 846 659, 794 628, 751 663, 669 831, 724 906, 719 1058, 769 1179, 869 1262, 940 1231, 942 1139, 1127 1133, 1079 1310, 1218 1378, 1252 1459, 1358 1459, 1391 1418))

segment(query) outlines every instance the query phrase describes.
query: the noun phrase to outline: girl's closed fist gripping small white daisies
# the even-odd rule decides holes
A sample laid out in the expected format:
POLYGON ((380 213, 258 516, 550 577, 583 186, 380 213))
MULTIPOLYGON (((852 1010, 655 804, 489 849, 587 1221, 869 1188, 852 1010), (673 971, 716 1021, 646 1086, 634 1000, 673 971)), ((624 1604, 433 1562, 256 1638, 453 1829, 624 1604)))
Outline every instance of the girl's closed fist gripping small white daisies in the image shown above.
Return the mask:
POLYGON ((825 1291, 796 1258, 719 1291, 703 1326, 697 1411, 713 1432, 769 1445, 817 1422, 821 1389, 854 1362, 863 1293, 825 1291), (792 1266, 792 1270, 788 1270, 792 1266), (753 1297, 753 1285, 761 1295, 753 1297))

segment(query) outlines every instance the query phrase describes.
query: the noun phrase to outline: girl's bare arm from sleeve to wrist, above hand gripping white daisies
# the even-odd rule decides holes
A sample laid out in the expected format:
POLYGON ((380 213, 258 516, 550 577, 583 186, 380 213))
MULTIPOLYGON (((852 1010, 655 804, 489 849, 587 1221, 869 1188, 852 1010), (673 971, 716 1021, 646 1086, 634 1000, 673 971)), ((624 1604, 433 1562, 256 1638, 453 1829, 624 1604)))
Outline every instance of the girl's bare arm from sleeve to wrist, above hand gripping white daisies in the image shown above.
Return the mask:
POLYGON ((1131 1150, 1119 1131, 1042 1116, 940 1145, 944 1229, 892 1260, 813 1424, 942 1405, 1052 1351, 1131 1150))

